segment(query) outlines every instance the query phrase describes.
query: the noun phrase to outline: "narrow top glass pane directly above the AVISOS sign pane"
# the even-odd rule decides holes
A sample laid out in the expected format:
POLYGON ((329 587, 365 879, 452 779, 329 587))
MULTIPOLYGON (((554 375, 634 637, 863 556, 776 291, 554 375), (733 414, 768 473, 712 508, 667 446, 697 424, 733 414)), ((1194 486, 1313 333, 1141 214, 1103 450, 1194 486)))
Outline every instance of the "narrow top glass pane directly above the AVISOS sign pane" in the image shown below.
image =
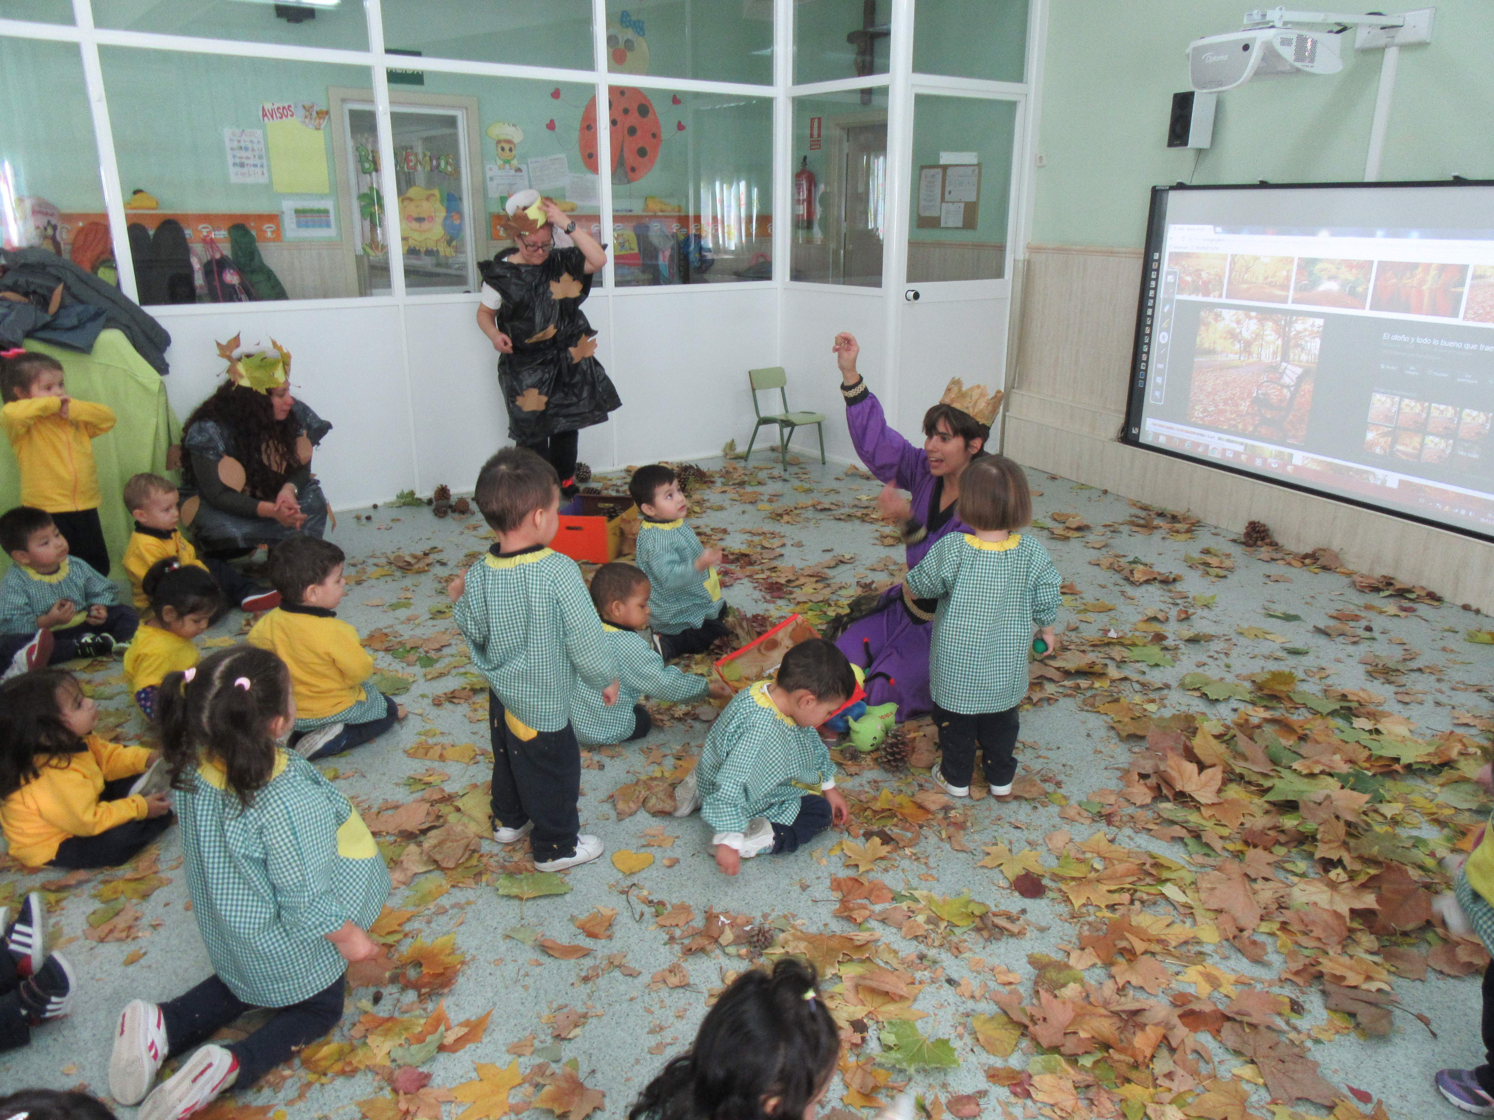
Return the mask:
POLYGON ((363 4, 354 0, 94 0, 93 13, 99 27, 125 31, 369 49, 363 4))

